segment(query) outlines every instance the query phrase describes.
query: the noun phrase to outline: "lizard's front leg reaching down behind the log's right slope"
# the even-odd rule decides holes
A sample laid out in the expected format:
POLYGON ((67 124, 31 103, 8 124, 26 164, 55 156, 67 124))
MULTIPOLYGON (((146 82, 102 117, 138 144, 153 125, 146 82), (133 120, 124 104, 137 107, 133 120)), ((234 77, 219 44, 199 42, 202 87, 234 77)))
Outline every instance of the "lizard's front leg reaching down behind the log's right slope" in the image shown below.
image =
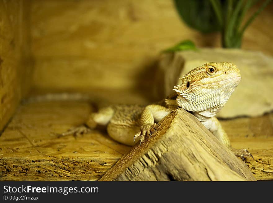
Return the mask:
POLYGON ((245 160, 244 157, 247 156, 251 156, 253 158, 252 154, 250 154, 247 149, 234 149, 230 146, 229 138, 216 117, 212 117, 201 123, 204 124, 204 126, 210 132, 212 132, 213 135, 217 137, 226 147, 228 147, 235 154, 235 156, 241 157, 242 160, 245 160))

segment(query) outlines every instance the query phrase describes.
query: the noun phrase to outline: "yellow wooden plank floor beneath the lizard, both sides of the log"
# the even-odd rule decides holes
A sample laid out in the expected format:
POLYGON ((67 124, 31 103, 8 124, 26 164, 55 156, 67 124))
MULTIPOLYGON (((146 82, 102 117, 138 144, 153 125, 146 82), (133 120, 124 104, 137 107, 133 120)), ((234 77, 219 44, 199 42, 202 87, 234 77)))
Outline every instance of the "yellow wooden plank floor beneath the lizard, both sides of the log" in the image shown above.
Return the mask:
MULTIPOLYGON (((105 131, 74 138, 56 133, 82 124, 93 111, 87 102, 21 105, 0 137, 0 180, 98 180, 130 147, 105 131)), ((221 120, 235 148, 253 154, 246 164, 257 180, 273 180, 273 113, 221 120)))

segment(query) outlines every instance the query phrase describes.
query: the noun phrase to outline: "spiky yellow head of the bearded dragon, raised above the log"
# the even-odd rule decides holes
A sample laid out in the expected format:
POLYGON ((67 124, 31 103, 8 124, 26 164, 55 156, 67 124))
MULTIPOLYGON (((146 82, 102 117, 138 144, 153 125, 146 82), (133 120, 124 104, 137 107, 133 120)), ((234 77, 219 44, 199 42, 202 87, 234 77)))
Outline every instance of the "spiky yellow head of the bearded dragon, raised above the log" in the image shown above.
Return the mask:
POLYGON ((206 63, 182 78, 174 87, 177 106, 191 112, 209 111, 214 116, 226 104, 241 80, 240 70, 228 62, 206 63))

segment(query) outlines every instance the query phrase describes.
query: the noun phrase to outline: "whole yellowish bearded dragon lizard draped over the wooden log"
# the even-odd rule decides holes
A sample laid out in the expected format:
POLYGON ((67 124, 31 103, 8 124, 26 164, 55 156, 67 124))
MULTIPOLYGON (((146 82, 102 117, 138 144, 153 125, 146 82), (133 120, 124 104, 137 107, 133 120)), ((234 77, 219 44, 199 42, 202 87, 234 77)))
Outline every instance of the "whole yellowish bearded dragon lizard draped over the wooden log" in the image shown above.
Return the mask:
POLYGON ((244 160, 253 156, 246 149, 234 149, 229 138, 215 115, 226 104, 241 80, 241 74, 236 65, 228 62, 206 63, 194 68, 181 78, 181 84, 174 87, 174 94, 165 102, 139 105, 117 105, 101 108, 92 113, 85 126, 62 133, 83 134, 94 129, 97 124, 105 125, 107 132, 114 140, 134 145, 143 142, 146 135, 151 135, 158 122, 173 109, 181 107, 192 113, 213 135, 233 153, 244 160))

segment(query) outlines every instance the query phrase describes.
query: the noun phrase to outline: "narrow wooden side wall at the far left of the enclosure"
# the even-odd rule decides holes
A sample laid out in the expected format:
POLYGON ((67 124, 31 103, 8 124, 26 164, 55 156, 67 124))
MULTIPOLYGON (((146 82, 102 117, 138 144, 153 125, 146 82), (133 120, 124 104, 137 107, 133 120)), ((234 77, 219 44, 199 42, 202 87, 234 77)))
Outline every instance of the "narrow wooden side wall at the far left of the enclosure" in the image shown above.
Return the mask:
POLYGON ((0 0, 0 130, 31 81, 29 3, 0 0))

